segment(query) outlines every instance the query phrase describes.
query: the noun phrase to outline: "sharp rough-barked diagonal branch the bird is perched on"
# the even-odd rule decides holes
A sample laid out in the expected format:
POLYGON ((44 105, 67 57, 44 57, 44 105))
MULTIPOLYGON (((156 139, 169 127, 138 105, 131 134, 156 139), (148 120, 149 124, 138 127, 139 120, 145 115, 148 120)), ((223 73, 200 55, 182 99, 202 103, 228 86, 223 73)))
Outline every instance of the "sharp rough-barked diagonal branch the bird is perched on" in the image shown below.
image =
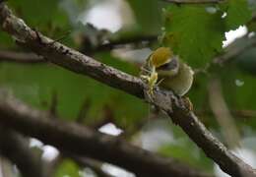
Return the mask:
MULTIPOLYGON (((145 97, 147 94, 144 94, 147 86, 140 79, 99 63, 93 58, 32 30, 21 19, 15 17, 4 4, 0 5, 0 24, 2 29, 17 38, 18 44, 30 48, 47 58, 49 62, 149 101, 145 97)), ((215 160, 226 173, 231 176, 243 176, 244 174, 256 176, 251 166, 232 154, 213 137, 197 116, 190 111, 182 98, 176 97, 171 91, 155 89, 151 100, 153 104, 166 112, 171 120, 179 125, 191 140, 215 160)))

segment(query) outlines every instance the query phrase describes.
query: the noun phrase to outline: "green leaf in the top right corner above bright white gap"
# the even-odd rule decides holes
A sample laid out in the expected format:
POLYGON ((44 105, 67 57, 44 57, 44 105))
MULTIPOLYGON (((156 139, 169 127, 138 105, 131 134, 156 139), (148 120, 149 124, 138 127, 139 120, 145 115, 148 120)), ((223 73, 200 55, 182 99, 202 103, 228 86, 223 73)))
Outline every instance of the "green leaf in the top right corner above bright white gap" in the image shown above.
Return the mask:
POLYGON ((251 11, 247 0, 229 0, 221 7, 226 11, 226 17, 224 18, 226 30, 237 29, 251 19, 251 11))

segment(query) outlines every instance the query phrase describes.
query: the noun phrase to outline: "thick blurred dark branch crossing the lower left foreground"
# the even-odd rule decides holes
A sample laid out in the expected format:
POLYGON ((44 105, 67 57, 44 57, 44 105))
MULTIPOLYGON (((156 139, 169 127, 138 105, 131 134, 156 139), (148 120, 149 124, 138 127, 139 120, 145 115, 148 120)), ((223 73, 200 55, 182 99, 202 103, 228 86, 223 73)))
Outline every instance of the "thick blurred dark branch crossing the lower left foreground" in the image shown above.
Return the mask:
POLYGON ((28 107, 5 91, 0 93, 0 117, 1 123, 45 144, 71 154, 120 165, 138 176, 205 176, 173 159, 131 146, 116 137, 78 124, 57 121, 57 118, 28 107))

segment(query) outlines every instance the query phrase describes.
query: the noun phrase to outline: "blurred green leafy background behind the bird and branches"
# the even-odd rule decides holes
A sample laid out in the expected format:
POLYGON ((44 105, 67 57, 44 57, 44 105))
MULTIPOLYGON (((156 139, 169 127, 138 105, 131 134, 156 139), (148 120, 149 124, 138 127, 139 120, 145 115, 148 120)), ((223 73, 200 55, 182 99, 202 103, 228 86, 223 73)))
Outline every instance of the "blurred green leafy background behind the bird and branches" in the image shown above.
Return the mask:
MULTIPOLYGON (((35 29, 55 39, 65 35, 61 42, 66 45, 83 50, 99 61, 135 76, 139 73, 139 63, 149 55, 149 48, 169 46, 194 69, 202 69, 211 63, 215 56, 224 52, 226 31, 243 26, 252 36, 256 30, 256 22, 251 20, 256 13, 256 3, 253 0, 229 0, 221 4, 202 5, 175 5, 160 0, 10 0, 8 4, 19 17, 35 29), (111 27, 116 26, 112 16, 99 18, 99 23, 96 23, 95 18, 95 21, 90 23, 96 28, 86 25, 89 17, 96 16, 96 8, 108 12, 117 9, 116 14, 120 21, 117 25, 120 28, 109 31, 111 27), (103 21, 110 24, 109 29, 101 29, 102 26, 98 24, 103 21), (97 50, 106 40, 123 41, 140 36, 156 36, 159 41, 121 45, 114 50, 97 50)), ((236 45, 244 45, 246 42, 240 40, 236 45)), ((22 50, 2 31, 0 49, 22 50)), ((213 79, 219 82, 224 102, 231 113, 235 134, 239 135, 239 139, 235 140, 239 147, 227 146, 234 151, 247 150, 246 152, 255 156, 254 165, 255 57, 256 48, 252 47, 232 58, 231 62, 223 67, 216 66, 207 71, 207 74, 197 74, 193 88, 188 93, 195 111, 200 113, 201 120, 227 144, 224 130, 229 127, 224 127, 222 121, 216 118, 210 104, 209 95, 213 91, 211 83, 213 79)), ((81 110, 87 105, 87 114, 82 118, 80 116, 83 124, 95 129, 107 123, 114 124, 124 132, 127 140, 132 140, 143 148, 216 173, 213 161, 179 128, 173 126, 169 119, 163 115, 154 116, 149 105, 124 92, 51 64, 1 62, 0 85, 10 89, 32 106, 43 110, 49 110, 52 100, 56 97, 55 113, 66 121, 77 121, 81 110)), ((109 127, 109 124, 107 125, 109 127)), ((107 131, 110 130, 111 133, 114 129, 108 128, 107 131)), ((99 130, 105 129, 101 127, 99 130)), ((40 149, 43 151, 43 146, 40 149)), ((242 152, 241 155, 246 156, 242 152)), ((81 176, 81 171, 87 170, 67 159, 58 165, 55 176, 81 176)))

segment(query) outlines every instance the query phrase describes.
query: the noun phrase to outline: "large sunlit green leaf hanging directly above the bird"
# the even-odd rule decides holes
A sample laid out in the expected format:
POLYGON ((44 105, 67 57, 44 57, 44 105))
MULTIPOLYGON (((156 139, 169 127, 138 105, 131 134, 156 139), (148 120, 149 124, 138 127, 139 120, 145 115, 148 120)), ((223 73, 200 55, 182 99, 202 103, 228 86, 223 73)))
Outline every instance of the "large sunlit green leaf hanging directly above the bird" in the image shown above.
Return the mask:
POLYGON ((165 12, 163 44, 191 66, 202 67, 222 50, 224 21, 217 8, 171 5, 165 12))

